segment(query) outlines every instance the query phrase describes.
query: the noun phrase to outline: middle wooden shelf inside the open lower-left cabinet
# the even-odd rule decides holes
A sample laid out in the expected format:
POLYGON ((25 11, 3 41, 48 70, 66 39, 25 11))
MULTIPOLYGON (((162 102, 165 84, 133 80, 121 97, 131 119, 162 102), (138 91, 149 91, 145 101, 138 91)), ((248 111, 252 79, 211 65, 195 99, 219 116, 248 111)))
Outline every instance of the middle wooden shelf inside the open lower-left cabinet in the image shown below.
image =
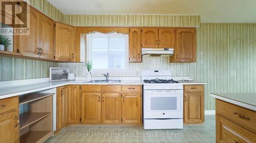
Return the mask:
POLYGON ((19 129, 23 129, 45 117, 50 115, 51 112, 30 112, 19 116, 19 129))

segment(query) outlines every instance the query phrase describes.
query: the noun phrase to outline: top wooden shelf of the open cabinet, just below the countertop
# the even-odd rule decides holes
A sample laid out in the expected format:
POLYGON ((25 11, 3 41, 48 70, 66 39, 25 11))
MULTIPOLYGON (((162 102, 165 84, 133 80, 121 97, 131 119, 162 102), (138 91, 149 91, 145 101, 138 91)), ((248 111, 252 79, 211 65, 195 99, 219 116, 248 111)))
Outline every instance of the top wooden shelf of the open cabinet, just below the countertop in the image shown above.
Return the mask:
POLYGON ((42 99, 48 96, 54 95, 54 93, 32 93, 19 97, 19 104, 25 104, 31 101, 42 99))

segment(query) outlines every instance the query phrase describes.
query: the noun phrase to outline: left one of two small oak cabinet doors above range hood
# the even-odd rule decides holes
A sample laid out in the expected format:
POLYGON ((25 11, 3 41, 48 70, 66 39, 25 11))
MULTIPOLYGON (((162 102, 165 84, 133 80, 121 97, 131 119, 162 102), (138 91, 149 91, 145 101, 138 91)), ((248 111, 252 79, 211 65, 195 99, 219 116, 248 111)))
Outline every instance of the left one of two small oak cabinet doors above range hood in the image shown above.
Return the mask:
POLYGON ((158 29, 142 28, 142 47, 157 48, 158 47, 158 29))

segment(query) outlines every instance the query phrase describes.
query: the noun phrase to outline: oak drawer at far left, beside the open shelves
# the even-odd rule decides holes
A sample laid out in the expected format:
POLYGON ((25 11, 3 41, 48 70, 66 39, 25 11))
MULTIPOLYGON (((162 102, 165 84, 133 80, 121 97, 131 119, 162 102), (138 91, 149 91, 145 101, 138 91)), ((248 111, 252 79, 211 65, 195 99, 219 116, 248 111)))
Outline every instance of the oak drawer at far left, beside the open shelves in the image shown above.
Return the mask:
POLYGON ((0 100, 0 113, 18 108, 18 97, 0 100))

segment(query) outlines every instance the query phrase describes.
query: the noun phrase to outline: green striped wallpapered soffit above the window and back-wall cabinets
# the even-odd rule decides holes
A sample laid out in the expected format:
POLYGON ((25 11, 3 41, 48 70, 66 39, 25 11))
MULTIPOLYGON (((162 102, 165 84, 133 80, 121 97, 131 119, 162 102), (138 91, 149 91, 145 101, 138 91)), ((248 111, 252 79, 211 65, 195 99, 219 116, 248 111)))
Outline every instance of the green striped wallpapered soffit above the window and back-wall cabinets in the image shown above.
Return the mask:
POLYGON ((179 26, 200 27, 200 16, 187 15, 64 15, 75 26, 179 26))

